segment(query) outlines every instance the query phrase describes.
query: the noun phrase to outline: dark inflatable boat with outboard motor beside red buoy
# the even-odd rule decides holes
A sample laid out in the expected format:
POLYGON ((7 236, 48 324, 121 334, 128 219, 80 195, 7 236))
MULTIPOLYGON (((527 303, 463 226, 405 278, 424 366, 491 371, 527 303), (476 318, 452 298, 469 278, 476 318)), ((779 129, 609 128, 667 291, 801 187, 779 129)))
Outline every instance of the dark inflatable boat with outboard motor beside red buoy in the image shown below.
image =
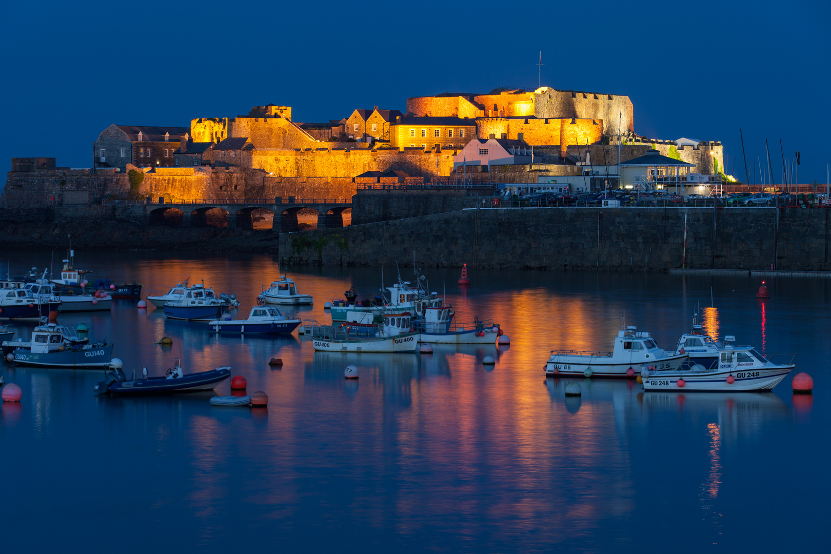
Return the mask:
POLYGON ((176 358, 172 368, 167 370, 164 377, 148 377, 147 368, 142 368, 141 378, 128 380, 121 360, 114 358, 110 367, 112 370, 106 375, 106 380, 100 381, 95 390, 100 395, 160 395, 177 392, 194 392, 197 390, 214 390, 216 385, 231 376, 230 366, 218 367, 215 370, 199 373, 184 373, 179 358, 176 358))

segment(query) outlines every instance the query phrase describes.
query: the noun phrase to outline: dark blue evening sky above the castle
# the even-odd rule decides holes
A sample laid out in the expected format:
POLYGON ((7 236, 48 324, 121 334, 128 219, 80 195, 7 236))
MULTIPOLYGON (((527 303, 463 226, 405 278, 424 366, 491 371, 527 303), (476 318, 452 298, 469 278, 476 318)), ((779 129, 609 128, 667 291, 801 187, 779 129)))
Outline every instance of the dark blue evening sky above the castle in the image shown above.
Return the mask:
POLYGON ((187 126, 268 102, 325 121, 536 86, 540 50, 543 85, 628 95, 638 134, 721 140, 740 179, 740 128, 749 164, 770 141, 776 183, 780 138, 802 154, 800 183, 824 183, 831 161, 828 2, 17 2, 3 15, 7 166, 89 167, 111 123, 187 126))

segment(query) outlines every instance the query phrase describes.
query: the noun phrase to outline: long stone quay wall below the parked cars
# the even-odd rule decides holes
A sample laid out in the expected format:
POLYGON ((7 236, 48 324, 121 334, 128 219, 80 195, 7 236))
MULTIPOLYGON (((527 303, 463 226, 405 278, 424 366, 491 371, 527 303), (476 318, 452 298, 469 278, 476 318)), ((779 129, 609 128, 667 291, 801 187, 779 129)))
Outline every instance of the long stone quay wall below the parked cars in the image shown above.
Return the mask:
POLYGON ((484 208, 282 233, 281 262, 421 267, 829 271, 827 209, 484 208))

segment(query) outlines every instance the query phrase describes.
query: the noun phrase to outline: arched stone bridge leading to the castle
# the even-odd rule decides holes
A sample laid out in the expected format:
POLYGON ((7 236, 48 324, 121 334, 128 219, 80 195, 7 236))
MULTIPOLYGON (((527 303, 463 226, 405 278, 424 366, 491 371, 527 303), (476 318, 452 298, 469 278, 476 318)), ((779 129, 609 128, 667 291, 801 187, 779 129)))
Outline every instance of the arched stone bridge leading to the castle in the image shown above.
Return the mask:
MULTIPOLYGON (((165 217, 170 210, 182 212, 182 227, 208 227, 208 212, 219 208, 226 214, 229 228, 253 228, 254 210, 274 213, 273 230, 291 233, 298 230, 297 213, 304 208, 317 212, 317 228, 343 227, 343 213, 352 210, 352 199, 199 199, 148 201, 145 210, 152 225, 170 225, 165 217)), ((175 212, 178 213, 178 212, 175 212)))

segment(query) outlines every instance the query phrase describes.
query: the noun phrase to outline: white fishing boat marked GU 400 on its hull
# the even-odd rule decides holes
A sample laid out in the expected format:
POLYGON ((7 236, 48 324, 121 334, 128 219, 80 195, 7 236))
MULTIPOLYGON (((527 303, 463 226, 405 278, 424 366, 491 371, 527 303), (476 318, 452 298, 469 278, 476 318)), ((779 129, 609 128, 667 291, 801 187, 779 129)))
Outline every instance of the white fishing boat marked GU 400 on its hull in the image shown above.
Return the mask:
POLYGON ((350 312, 338 325, 304 325, 316 351, 328 352, 415 352, 419 332, 411 326, 410 312, 386 313, 381 322, 366 312, 350 312))

